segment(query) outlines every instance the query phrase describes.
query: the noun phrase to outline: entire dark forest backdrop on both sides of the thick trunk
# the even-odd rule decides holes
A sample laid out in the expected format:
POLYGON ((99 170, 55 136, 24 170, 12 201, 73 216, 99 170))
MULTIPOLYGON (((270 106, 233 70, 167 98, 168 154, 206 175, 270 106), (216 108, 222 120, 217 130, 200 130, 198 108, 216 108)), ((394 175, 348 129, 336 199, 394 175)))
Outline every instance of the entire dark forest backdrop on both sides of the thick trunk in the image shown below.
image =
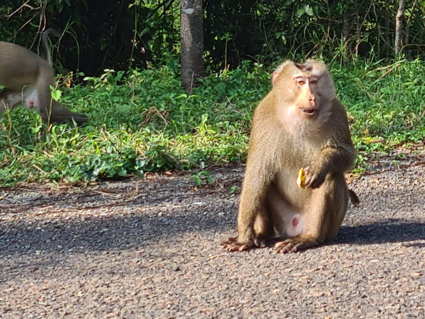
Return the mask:
MULTIPOLYGON (((394 61, 398 1, 204 0, 207 66, 235 69, 245 60, 271 64, 282 58, 320 57, 346 63, 361 57, 394 61), (343 19, 345 17, 345 20, 343 19), (344 23, 346 22, 346 23, 344 23), (343 26, 346 26, 345 32, 343 26)), ((3 0, 0 40, 36 51, 39 31, 55 27, 53 62, 67 70, 99 75, 166 65, 178 74, 178 0, 3 0), (100 9, 102 8, 102 9, 100 9)), ((407 1, 403 54, 424 57, 425 1, 407 1)))

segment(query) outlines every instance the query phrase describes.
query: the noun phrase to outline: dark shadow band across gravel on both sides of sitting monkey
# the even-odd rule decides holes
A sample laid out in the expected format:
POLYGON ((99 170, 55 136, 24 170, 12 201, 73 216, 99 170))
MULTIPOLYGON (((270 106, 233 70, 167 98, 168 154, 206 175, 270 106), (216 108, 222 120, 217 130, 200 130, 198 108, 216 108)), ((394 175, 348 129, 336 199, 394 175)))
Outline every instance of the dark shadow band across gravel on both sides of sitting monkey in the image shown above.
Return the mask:
MULTIPOLYGON (((140 249, 164 239, 181 237, 185 233, 199 233, 198 238, 208 238, 212 236, 211 231, 224 232, 235 228, 236 211, 219 215, 217 211, 223 209, 216 203, 214 210, 198 208, 189 212, 176 211, 163 217, 151 213, 132 213, 118 218, 87 217, 78 221, 44 219, 42 224, 3 222, 0 227, 7 227, 7 231, 0 228, 0 255, 34 253, 37 250, 55 252, 72 249, 83 252, 140 249)), ((219 237, 225 238, 226 235, 219 237)), ((387 219, 365 225, 342 226, 331 244, 365 245, 423 239, 424 223, 387 219)))

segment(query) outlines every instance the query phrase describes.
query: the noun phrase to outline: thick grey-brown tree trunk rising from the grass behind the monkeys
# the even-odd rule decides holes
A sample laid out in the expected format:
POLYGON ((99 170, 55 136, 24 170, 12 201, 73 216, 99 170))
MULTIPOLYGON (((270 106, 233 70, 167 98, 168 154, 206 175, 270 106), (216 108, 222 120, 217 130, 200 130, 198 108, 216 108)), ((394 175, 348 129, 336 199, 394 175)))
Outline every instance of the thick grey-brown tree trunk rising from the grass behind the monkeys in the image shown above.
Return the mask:
POLYGON ((180 0, 181 83, 187 93, 204 75, 202 0, 180 0))

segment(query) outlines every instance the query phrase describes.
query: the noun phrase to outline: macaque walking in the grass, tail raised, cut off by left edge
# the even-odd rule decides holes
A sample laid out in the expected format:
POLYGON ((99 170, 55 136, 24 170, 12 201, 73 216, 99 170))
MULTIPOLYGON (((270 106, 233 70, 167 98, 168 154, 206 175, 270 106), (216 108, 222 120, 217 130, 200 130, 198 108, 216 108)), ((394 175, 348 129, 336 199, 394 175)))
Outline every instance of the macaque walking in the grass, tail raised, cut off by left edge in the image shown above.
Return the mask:
POLYGON ((4 87, 0 92, 0 113, 22 104, 37 110, 47 123, 74 119, 80 126, 87 122, 86 115, 74 113, 51 98, 50 85, 55 86, 55 75, 47 45, 50 32, 54 33, 48 29, 42 37, 46 60, 20 45, 0 41, 0 86, 4 87))

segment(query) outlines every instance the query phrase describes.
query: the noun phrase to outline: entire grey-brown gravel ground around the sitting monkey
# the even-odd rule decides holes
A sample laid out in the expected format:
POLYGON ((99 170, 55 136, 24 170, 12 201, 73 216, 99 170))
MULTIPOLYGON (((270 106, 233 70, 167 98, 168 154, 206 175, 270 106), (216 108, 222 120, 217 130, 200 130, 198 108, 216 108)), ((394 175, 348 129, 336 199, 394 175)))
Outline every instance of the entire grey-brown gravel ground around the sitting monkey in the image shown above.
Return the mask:
POLYGON ((1 318, 425 318, 425 165, 353 180, 337 238, 226 253, 243 167, 0 189, 1 318))

